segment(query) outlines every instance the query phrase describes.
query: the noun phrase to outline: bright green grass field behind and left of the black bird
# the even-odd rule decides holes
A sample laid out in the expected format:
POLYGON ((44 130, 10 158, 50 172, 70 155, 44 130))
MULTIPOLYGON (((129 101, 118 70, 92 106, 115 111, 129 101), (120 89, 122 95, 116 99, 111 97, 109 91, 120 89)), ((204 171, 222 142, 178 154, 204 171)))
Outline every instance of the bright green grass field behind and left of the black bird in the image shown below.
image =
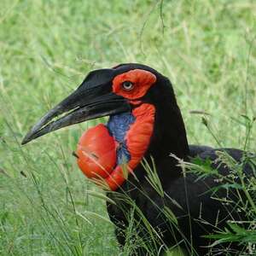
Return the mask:
MULTIPOLYGON (((20 147, 86 73, 148 64, 172 80, 189 143, 218 147, 196 110, 221 145, 243 148, 241 115, 256 116, 255 44, 253 0, 1 0, 0 254, 120 253, 103 195, 71 155, 94 122, 20 147)), ((255 143, 254 128, 248 149, 255 143)))

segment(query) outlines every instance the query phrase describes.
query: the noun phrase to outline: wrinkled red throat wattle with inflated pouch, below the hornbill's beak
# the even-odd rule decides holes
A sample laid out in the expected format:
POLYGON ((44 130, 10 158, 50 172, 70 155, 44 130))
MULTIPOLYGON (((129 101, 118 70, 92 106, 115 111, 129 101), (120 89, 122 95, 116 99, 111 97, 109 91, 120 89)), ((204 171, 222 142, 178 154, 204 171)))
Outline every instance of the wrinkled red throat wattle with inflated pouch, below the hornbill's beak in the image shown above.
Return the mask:
POLYGON ((126 167, 116 166, 118 143, 110 136, 105 125, 96 125, 85 131, 79 139, 77 149, 78 165, 82 172, 89 178, 96 178, 98 185, 101 183, 97 181, 103 178, 109 189, 118 189, 128 176, 126 172, 132 172, 136 168, 148 149, 154 129, 154 113, 154 106, 148 103, 133 109, 136 121, 125 135, 126 146, 131 154, 126 167))

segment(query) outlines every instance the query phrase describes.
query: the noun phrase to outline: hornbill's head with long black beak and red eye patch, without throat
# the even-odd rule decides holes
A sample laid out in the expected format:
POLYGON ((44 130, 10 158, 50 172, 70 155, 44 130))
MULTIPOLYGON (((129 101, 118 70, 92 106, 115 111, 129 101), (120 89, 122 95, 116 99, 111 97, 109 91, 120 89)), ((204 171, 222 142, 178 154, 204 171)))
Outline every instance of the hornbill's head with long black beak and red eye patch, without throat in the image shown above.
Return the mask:
POLYGON ((154 100, 154 90, 160 90, 161 77, 153 68, 140 64, 92 71, 77 90, 33 125, 22 144, 68 125, 131 111, 143 102, 156 104, 161 99, 154 100))

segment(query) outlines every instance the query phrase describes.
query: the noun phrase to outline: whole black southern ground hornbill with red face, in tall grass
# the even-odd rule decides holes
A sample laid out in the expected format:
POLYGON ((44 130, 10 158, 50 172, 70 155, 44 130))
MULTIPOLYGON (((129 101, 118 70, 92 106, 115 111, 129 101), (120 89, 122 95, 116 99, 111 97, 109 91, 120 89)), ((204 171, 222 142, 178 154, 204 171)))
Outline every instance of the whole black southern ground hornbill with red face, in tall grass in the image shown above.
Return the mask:
MULTIPOLYGON (((148 243, 137 246, 134 254, 146 255, 147 247, 154 247, 156 255, 175 244, 189 255, 219 253, 219 247, 207 247, 210 242, 204 235, 223 230, 227 220, 245 219, 245 214, 236 212, 237 205, 214 199, 227 197, 226 189, 212 194, 212 188, 219 185, 216 177, 198 179, 193 173, 184 174, 178 163, 211 160, 212 168, 221 175, 229 175, 230 170, 220 164, 216 149, 189 146, 172 84, 153 68, 129 63, 90 72, 77 90, 32 127, 22 143, 102 116, 109 116, 108 124, 85 132, 76 154, 80 169, 96 183, 107 185, 108 196, 115 201, 108 204, 108 214, 117 227, 120 245, 125 244, 124 230, 133 212, 137 237, 148 243), (143 159, 157 170, 156 186, 148 178, 143 159), (128 195, 131 203, 121 195, 128 195), (173 213, 173 221, 166 212, 169 217, 173 213), (151 243, 147 241, 148 224, 156 237, 151 243)), ((243 155, 238 149, 219 150, 238 162, 243 155)), ((249 166, 244 166, 244 172, 250 172, 249 166)), ((235 190, 230 189, 228 196, 238 203, 235 190)), ((238 243, 224 247, 232 255, 241 250, 238 243)))

